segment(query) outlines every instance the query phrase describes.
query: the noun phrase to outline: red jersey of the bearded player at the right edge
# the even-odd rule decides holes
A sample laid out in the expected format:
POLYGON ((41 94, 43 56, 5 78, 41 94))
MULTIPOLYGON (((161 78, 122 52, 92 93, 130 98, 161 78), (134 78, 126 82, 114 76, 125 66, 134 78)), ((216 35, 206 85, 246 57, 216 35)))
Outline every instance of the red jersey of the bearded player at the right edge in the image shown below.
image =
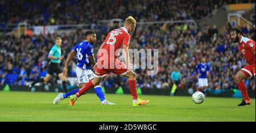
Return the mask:
POLYGON ((255 41, 242 36, 238 50, 245 57, 248 64, 255 64, 255 54, 253 53, 255 51, 255 41))

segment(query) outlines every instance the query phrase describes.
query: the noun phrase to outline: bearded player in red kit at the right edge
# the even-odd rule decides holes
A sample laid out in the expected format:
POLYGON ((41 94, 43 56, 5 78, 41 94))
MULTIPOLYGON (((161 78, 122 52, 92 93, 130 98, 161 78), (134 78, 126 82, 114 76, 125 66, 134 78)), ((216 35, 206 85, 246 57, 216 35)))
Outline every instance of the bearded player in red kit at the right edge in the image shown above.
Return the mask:
POLYGON ((238 89, 241 91, 244 98, 238 106, 250 105, 251 101, 243 79, 255 76, 255 41, 243 37, 242 31, 237 27, 230 30, 230 36, 234 43, 238 43, 238 50, 242 53, 247 62, 247 65, 234 76, 238 89))

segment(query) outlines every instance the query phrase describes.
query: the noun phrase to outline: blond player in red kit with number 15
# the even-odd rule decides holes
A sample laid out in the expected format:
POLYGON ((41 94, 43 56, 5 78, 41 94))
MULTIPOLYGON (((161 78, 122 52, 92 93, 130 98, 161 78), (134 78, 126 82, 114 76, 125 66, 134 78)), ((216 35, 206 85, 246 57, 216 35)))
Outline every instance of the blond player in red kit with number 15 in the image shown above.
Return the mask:
POLYGON ((131 39, 131 34, 135 30, 136 20, 129 16, 125 19, 123 27, 112 30, 108 33, 104 43, 102 43, 99 48, 98 60, 95 69, 95 78, 92 81, 86 83, 82 89, 79 90, 75 95, 71 95, 69 98, 69 103, 73 106, 76 99, 84 94, 87 90, 100 84, 102 78, 113 72, 120 76, 125 76, 129 79, 129 89, 131 95, 133 96, 133 106, 146 105, 149 101, 138 98, 137 88, 136 88, 136 74, 131 69, 128 46, 131 39), (117 60, 117 53, 119 49, 123 49, 123 55, 125 57, 125 63, 117 60))

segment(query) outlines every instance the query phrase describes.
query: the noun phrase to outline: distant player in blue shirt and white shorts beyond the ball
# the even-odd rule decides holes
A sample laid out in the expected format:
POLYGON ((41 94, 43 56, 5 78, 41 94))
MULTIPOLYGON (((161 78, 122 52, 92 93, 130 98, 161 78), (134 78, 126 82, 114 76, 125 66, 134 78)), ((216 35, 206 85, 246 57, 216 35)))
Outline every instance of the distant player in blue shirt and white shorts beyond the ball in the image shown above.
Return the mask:
POLYGON ((205 57, 202 57, 201 63, 196 65, 196 74, 198 78, 198 86, 202 93, 205 94, 208 88, 207 76, 209 76, 209 66, 205 63, 205 57))

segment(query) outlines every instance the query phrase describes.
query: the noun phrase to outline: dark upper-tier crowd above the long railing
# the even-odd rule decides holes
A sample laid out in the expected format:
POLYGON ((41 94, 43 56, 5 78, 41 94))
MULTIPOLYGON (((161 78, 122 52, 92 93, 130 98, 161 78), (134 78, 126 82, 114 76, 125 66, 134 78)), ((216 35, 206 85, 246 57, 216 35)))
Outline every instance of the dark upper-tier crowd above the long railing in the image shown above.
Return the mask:
POLYGON ((90 24, 109 18, 125 19, 129 15, 133 15, 138 21, 198 20, 214 13, 221 6, 249 2, 250 0, 9 0, 0 1, 0 13, 5 14, 0 16, 0 23, 27 22, 31 26, 90 24))

